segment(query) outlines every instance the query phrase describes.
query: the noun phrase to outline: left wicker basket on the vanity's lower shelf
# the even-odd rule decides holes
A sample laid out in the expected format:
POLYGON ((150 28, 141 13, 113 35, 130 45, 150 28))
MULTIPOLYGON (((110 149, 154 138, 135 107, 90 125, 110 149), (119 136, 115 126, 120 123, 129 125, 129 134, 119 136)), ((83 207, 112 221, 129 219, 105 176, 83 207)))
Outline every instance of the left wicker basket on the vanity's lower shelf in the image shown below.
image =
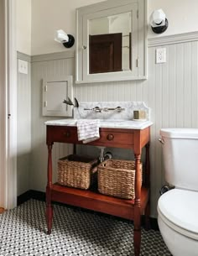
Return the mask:
POLYGON ((96 180, 97 159, 70 154, 58 161, 58 183, 87 190, 96 180))

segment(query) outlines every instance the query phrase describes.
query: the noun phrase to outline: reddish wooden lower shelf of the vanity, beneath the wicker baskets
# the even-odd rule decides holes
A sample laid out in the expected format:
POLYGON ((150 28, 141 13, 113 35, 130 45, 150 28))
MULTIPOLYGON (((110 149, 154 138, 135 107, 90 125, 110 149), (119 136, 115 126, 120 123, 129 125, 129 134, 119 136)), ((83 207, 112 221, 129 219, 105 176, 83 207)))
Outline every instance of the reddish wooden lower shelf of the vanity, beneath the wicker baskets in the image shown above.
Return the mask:
MULTIPOLYGON (((141 212, 148 202, 149 190, 141 189, 141 212)), ((117 217, 133 220, 134 201, 112 196, 105 196, 95 191, 83 191, 65 187, 57 183, 52 185, 51 200, 71 206, 80 206, 96 212, 103 212, 117 217)))

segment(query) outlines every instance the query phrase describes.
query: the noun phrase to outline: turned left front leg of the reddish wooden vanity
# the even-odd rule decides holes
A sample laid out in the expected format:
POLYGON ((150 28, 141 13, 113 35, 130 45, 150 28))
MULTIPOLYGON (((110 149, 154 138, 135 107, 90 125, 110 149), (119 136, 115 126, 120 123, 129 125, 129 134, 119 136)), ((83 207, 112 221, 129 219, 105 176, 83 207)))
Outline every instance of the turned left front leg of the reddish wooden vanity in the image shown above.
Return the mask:
POLYGON ((48 234, 51 233, 52 218, 53 218, 53 208, 51 205, 51 189, 52 189, 52 159, 51 159, 52 144, 48 145, 48 184, 46 187, 46 217, 47 217, 47 227, 48 234))

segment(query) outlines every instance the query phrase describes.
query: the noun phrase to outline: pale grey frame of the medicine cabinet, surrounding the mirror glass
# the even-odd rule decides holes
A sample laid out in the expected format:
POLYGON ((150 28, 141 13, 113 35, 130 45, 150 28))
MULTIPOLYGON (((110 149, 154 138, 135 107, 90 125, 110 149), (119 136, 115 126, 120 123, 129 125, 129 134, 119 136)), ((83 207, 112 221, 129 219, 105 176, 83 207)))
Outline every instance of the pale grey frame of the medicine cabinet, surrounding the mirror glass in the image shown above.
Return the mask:
POLYGON ((108 0, 76 10, 76 83, 147 79, 147 0, 108 0), (134 36, 131 50, 132 71, 89 74, 89 19, 117 13, 132 12, 134 36), (124 11, 125 12, 125 11, 124 11), (104 13, 104 14, 102 14, 104 13))

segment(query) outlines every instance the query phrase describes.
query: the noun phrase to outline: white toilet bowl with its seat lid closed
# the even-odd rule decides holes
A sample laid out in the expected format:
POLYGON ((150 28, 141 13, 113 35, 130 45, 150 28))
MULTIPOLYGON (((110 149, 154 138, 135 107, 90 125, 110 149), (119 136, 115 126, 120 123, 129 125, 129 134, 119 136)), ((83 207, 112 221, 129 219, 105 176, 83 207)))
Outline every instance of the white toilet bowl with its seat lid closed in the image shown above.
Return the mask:
POLYGON ((198 193, 173 189, 160 196, 159 230, 174 256, 198 255, 198 193))

